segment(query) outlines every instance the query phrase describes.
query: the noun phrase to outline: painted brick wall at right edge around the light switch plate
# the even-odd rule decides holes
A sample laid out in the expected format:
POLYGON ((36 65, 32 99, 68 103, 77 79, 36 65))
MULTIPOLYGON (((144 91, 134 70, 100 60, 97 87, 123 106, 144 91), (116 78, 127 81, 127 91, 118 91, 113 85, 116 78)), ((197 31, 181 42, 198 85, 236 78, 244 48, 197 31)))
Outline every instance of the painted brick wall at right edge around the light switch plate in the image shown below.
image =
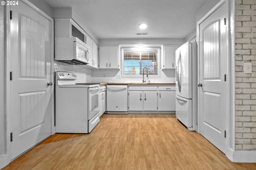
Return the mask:
POLYGON ((256 150, 256 0, 236 0, 236 150, 256 150), (244 61, 252 74, 244 74, 244 61))

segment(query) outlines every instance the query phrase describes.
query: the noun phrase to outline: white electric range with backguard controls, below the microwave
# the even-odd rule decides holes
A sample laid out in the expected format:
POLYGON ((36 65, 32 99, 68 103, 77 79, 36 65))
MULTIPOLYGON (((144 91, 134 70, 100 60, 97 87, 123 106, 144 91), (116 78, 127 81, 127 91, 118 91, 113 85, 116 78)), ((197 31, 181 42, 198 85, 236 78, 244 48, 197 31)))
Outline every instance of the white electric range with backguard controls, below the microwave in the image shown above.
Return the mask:
POLYGON ((76 74, 55 74, 56 133, 90 133, 100 122, 99 84, 76 84, 76 74))

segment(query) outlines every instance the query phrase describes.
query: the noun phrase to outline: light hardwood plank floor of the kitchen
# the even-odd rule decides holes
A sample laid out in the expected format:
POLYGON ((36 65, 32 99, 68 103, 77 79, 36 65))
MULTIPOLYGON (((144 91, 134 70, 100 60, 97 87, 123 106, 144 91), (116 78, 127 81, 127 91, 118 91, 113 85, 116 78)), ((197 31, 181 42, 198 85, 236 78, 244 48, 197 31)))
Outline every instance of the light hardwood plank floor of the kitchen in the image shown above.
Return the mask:
POLYGON ((232 163, 172 114, 107 115, 90 134, 55 134, 3 170, 255 170, 232 163))

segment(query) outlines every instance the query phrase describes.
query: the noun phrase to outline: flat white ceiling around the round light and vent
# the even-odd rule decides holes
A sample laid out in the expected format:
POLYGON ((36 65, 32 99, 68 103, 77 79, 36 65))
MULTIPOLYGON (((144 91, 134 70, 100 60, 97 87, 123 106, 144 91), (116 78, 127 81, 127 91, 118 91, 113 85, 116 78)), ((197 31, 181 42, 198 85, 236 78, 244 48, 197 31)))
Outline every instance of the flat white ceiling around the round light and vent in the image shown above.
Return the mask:
POLYGON ((45 0, 72 7, 99 38, 185 38, 206 0, 45 0), (138 25, 146 23, 146 29, 138 25), (148 33, 148 35, 136 35, 148 33))

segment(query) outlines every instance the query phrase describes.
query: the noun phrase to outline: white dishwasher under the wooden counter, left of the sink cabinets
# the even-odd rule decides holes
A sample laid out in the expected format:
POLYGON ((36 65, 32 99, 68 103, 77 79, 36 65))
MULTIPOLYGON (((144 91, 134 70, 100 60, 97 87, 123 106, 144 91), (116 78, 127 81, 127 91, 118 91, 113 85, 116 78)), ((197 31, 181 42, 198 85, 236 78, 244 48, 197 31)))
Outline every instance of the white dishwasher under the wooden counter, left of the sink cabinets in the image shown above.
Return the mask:
POLYGON ((128 87, 127 85, 107 85, 107 111, 108 114, 128 113, 128 87))

